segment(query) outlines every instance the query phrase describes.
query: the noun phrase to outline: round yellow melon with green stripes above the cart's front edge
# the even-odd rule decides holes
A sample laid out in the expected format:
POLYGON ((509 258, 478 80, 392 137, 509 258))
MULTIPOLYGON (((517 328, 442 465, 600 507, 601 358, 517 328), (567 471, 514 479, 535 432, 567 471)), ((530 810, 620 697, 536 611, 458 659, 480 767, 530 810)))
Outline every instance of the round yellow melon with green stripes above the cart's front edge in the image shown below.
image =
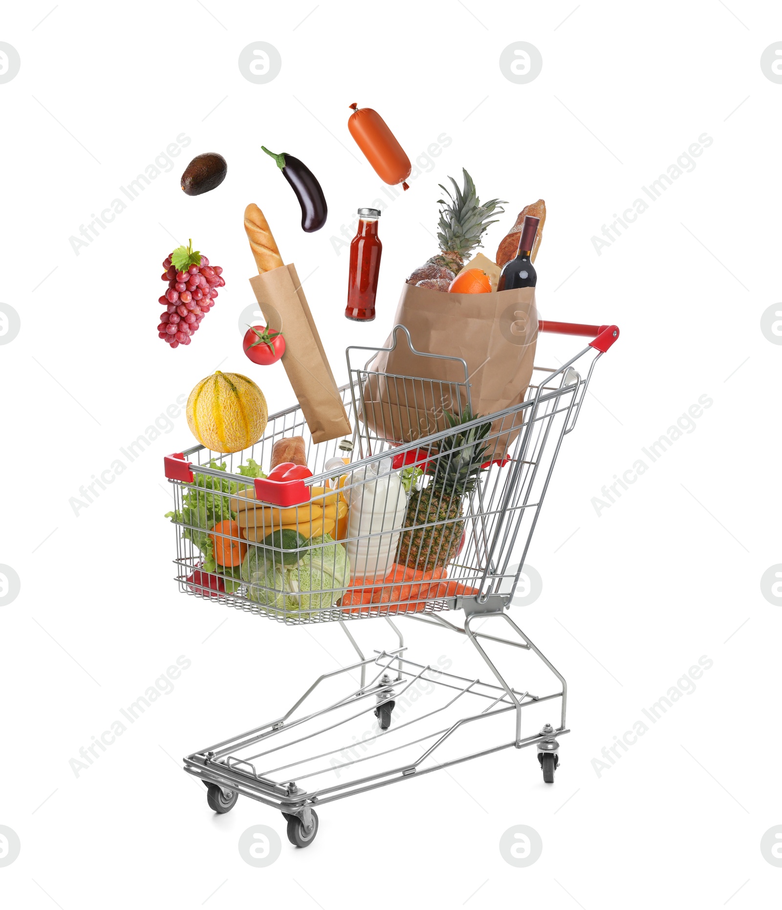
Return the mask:
POLYGON ((264 393, 252 379, 219 369, 197 383, 187 399, 187 425, 195 439, 226 454, 255 445, 268 413, 264 393))

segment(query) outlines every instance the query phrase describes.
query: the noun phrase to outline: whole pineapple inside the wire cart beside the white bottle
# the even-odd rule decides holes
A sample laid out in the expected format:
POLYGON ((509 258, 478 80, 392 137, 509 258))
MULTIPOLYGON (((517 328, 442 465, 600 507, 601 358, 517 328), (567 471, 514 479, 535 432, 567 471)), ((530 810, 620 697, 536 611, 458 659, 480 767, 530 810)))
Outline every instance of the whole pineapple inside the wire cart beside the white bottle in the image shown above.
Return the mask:
MULTIPOLYGON (((467 409, 459 419, 446 411, 446 418, 454 428, 477 416, 467 409)), ((400 565, 432 571, 456 556, 465 530, 465 522, 460 518, 462 500, 473 490, 483 470, 488 446, 481 441, 490 430, 491 423, 482 423, 440 441, 436 455, 426 465, 428 483, 419 491, 413 490, 407 504, 404 527, 410 530, 403 531, 399 541, 396 561, 400 565)))

